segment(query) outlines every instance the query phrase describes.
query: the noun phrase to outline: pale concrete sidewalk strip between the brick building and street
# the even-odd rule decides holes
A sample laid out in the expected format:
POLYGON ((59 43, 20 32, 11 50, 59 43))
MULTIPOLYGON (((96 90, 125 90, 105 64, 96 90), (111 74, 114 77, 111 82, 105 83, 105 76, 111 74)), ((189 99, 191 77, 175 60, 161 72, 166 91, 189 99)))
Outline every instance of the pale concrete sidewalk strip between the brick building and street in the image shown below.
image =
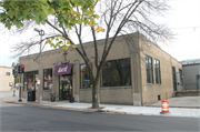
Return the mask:
MULTIPOLYGON (((91 103, 69 103, 68 101, 40 101, 40 104, 36 102, 27 102, 27 99, 22 99, 22 102, 18 102, 18 97, 9 97, 4 98, 3 101, 8 103, 17 103, 17 104, 27 104, 27 105, 37 105, 37 106, 49 106, 56 109, 68 109, 76 111, 99 111, 107 113, 122 113, 122 114, 139 114, 139 115, 164 115, 164 116, 192 116, 200 118, 200 109, 191 109, 191 108, 170 108, 169 103, 169 114, 160 114, 161 104, 159 106, 159 102, 152 106, 133 106, 133 105, 113 105, 113 104, 100 104, 101 110, 93 110, 91 108, 91 103)), ((170 101, 169 101, 170 102, 170 101)))

